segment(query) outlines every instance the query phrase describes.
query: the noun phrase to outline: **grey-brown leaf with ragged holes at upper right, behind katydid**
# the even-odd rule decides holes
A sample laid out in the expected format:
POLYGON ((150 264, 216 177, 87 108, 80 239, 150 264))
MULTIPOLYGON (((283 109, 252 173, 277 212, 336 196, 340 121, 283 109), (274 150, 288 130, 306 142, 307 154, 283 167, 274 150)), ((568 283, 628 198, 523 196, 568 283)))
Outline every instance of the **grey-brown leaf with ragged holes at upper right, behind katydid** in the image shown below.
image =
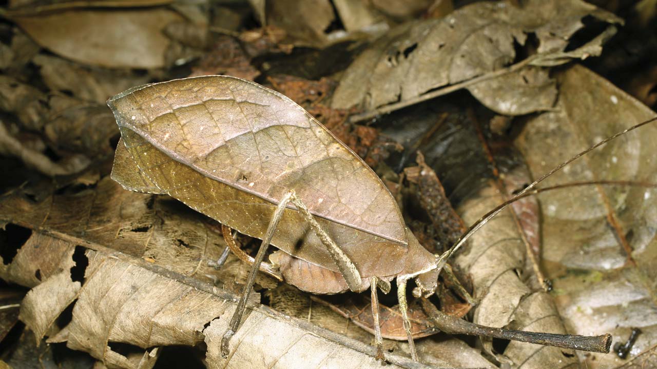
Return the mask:
MULTIPOLYGON (((334 108, 355 104, 366 110, 413 100, 444 85, 484 76, 516 58, 514 43, 527 33, 539 40, 537 52, 559 54, 583 26, 581 18, 620 22, 611 13, 579 0, 530 1, 522 9, 509 2, 475 3, 445 18, 403 24, 364 51, 345 72, 332 100, 334 108)), ((604 41, 596 40, 595 45, 604 41)), ((595 45, 587 46, 590 55, 595 45)), ((570 57, 585 57, 583 54, 570 57)), ((474 84, 470 92, 502 114, 551 108, 556 98, 547 70, 532 67, 474 84), (506 87, 505 87, 506 86, 506 87), (512 86, 512 87, 509 87, 512 86)))

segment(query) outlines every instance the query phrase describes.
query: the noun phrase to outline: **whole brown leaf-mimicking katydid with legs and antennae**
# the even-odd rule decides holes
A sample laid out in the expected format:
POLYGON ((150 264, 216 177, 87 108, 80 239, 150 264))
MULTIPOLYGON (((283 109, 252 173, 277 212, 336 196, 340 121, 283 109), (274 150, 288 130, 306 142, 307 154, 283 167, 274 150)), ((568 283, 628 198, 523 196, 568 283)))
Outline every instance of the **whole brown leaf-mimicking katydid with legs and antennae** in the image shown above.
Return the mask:
MULTIPOLYGON (((300 290, 371 290, 376 358, 381 360, 376 288, 388 293, 395 280, 411 356, 417 360, 407 282, 415 280, 415 297, 436 292, 449 256, 510 204, 493 209, 437 257, 406 227, 374 171, 280 93, 236 77, 203 76, 133 87, 108 105, 122 134, 112 179, 128 190, 168 194, 219 221, 229 246, 230 228, 262 240, 221 341, 224 357, 271 244, 279 250, 264 271, 300 290)), ((593 148, 516 198, 539 192, 537 183, 593 148)))

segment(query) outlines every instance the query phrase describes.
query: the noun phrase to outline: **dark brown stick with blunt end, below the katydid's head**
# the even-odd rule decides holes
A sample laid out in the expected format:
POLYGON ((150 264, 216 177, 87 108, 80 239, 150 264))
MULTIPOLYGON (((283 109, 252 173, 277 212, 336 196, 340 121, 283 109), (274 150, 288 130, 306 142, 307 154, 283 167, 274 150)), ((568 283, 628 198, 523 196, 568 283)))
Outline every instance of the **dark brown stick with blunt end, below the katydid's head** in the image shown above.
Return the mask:
POLYGON ((470 336, 512 339, 513 341, 592 351, 595 353, 608 353, 609 347, 612 344, 612 336, 610 334, 603 334, 602 336, 579 336, 576 334, 526 332, 522 330, 480 326, 479 324, 443 314, 436 309, 434 304, 430 303, 424 297, 422 297, 421 302, 422 309, 430 316, 436 328, 448 334, 467 334, 470 336))

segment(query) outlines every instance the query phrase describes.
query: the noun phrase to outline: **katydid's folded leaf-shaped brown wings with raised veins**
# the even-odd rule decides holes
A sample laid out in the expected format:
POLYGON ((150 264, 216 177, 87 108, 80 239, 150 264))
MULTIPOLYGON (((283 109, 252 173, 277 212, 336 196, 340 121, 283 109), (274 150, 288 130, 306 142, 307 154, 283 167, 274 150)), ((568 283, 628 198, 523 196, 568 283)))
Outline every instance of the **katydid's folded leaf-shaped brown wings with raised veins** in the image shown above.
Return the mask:
MULTIPOLYGON (((282 95, 214 76, 136 87, 109 104, 133 170, 193 209, 260 238, 275 204, 294 189, 361 276, 392 276, 404 267, 407 234, 390 192, 360 158, 282 95), (369 246, 367 255, 359 252, 369 246)), ((135 188, 124 171, 113 177, 135 188)), ((277 229, 272 244, 338 271, 298 212, 287 209, 277 229)))

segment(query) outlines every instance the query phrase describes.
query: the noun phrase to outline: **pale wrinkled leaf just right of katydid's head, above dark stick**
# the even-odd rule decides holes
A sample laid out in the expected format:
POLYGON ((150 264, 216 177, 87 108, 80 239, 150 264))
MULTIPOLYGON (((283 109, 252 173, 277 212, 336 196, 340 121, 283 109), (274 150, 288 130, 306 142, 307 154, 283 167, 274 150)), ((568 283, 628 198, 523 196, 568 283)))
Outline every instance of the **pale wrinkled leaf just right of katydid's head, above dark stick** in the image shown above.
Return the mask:
MULTIPOLYGON (((476 198, 464 201, 457 211, 469 224, 501 202, 503 197, 491 181, 476 198)), ((473 322, 564 334, 566 330, 551 297, 542 291, 533 292, 520 278, 526 248, 509 211, 503 211, 474 234, 468 249, 455 259, 455 263, 472 276, 474 297, 479 301, 474 308, 473 322)), ((494 355, 491 341, 484 339, 484 348, 494 355)), ((515 363, 519 368, 566 368, 577 362, 572 351, 516 341, 509 343, 503 355, 499 353, 495 357, 501 362, 515 363)))

